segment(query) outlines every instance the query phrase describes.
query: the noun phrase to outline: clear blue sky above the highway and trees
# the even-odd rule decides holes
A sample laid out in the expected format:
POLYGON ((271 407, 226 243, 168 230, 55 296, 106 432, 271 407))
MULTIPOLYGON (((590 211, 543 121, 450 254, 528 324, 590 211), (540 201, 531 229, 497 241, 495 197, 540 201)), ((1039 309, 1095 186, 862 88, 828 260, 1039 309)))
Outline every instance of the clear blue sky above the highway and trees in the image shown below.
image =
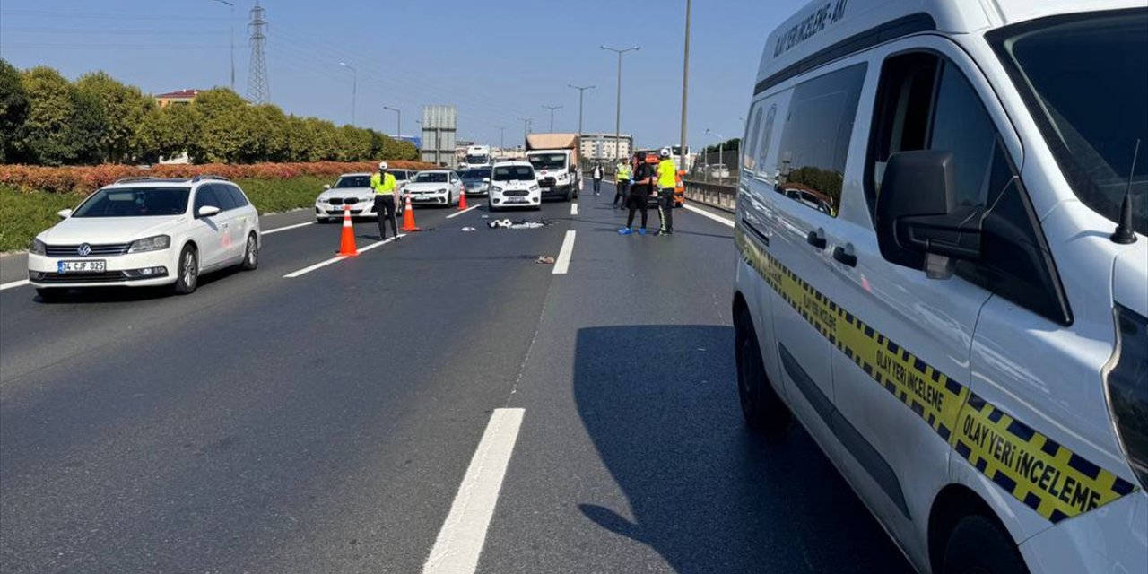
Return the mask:
MULTIPOLYGON (((713 142, 706 129, 740 135, 766 36, 804 0, 693 2, 690 145, 713 142)), ((248 10, 211 0, 0 0, 0 57, 17 68, 46 64, 69 78, 104 70, 150 93, 228 84, 235 26, 235 84, 247 88, 248 10)), ((522 122, 546 131, 613 132, 616 56, 598 48, 641 45, 623 60, 622 131, 639 146, 676 142, 682 92, 684 0, 266 0, 271 100, 288 113, 351 119, 351 72, 358 70, 359 125, 414 133, 427 103, 458 107, 459 139, 519 144, 522 122)))

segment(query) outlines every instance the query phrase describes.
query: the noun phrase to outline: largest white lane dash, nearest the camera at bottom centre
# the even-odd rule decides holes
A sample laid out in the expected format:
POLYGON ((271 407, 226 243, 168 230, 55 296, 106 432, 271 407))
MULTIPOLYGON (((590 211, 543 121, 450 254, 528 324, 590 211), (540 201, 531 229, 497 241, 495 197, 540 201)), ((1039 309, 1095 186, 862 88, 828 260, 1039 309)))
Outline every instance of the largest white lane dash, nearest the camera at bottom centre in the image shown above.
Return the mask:
POLYGON ((422 574, 473 574, 522 426, 522 409, 495 409, 422 574))

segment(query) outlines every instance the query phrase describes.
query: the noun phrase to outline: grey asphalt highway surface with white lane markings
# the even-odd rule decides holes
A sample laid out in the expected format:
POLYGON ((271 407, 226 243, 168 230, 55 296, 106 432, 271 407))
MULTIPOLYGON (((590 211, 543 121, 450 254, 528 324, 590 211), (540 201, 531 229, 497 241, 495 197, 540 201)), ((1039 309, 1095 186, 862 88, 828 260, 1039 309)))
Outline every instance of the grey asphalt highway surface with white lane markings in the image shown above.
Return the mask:
POLYGON ((612 196, 498 215, 540 230, 418 209, 285 278, 338 247, 305 225, 191 296, 0 292, 0 571, 421 572, 521 409, 489 526, 443 536, 478 572, 907 572, 799 426, 742 425, 731 227, 620 236, 612 196), (569 231, 565 274, 534 262, 569 231))

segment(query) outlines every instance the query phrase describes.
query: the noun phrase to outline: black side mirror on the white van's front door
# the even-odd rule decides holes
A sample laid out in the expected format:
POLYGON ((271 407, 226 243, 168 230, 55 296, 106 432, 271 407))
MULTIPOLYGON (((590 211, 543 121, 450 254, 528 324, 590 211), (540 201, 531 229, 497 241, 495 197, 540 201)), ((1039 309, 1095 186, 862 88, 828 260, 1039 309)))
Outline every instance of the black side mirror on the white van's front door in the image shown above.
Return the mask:
POLYGON ((877 245, 897 265, 924 269, 933 279, 953 274, 954 259, 980 258, 980 207, 956 205, 951 152, 893 154, 877 193, 877 245))

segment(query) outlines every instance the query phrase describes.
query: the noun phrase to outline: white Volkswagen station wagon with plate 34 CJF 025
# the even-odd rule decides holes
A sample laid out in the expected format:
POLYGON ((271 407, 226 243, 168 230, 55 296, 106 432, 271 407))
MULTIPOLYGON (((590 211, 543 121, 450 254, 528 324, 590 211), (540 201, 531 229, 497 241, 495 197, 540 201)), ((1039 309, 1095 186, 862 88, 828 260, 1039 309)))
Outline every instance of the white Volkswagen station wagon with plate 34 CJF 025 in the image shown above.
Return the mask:
POLYGON ((202 272, 259 262, 258 212, 216 176, 121 179, 60 217, 29 247, 29 281, 42 301, 104 286, 188 294, 202 272))

